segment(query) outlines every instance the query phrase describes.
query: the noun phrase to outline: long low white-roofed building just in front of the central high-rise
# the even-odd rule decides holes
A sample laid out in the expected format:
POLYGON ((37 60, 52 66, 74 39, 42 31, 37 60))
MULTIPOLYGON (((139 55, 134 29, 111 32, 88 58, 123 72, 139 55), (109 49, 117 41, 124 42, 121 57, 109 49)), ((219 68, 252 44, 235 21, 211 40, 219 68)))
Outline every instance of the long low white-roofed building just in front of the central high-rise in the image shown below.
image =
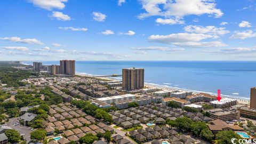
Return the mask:
POLYGON ((103 101, 105 103, 116 103, 117 101, 121 100, 135 100, 136 96, 133 94, 124 94, 124 95, 116 95, 113 97, 106 97, 106 98, 98 98, 97 100, 103 101))

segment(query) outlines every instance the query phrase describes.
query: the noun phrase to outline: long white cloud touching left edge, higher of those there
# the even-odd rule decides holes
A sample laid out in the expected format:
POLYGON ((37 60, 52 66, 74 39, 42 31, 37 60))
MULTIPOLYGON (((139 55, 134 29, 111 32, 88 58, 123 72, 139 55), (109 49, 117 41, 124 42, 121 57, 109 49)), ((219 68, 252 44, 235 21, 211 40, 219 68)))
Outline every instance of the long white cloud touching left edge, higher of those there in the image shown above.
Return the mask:
POLYGON ((36 38, 25 38, 22 39, 20 37, 14 36, 14 37, 0 37, 0 39, 6 40, 6 41, 11 41, 15 43, 26 43, 26 44, 43 44, 36 38))

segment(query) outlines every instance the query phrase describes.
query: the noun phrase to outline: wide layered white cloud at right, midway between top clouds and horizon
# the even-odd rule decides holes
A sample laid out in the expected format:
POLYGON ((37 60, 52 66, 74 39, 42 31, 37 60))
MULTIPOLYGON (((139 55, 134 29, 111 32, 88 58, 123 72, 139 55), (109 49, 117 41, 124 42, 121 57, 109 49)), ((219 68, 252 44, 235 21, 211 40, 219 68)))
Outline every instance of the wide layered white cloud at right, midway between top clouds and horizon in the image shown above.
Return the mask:
POLYGON ((227 46, 220 41, 213 42, 200 42, 207 38, 218 38, 215 35, 195 34, 195 33, 177 33, 170 35, 151 35, 148 39, 152 42, 173 44, 176 46, 189 46, 189 47, 219 47, 227 46))

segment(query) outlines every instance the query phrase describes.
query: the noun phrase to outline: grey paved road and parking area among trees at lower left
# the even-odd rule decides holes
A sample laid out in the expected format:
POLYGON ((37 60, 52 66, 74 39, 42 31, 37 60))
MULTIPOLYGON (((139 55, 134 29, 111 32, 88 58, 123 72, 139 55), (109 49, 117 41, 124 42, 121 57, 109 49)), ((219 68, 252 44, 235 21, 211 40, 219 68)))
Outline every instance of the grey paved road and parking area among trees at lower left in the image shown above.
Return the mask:
POLYGON ((29 127, 27 127, 27 126, 22 126, 22 125, 15 125, 14 126, 15 121, 18 121, 18 117, 10 118, 9 122, 6 123, 6 124, 7 124, 7 126, 12 127, 12 129, 15 129, 15 130, 19 131, 20 134, 25 134, 25 135, 23 135, 23 137, 24 137, 24 139, 27 140, 27 142, 29 142, 30 141, 30 132, 32 132, 32 131, 30 131, 29 127))

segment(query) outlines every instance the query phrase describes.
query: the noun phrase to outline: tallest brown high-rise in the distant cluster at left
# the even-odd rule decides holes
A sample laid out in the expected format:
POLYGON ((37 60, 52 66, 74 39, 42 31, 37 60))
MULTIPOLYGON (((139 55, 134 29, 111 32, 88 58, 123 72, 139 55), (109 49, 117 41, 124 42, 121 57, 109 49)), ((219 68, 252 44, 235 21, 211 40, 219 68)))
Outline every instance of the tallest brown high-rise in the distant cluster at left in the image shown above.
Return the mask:
POLYGON ((75 60, 60 60, 60 74, 75 76, 75 60))

